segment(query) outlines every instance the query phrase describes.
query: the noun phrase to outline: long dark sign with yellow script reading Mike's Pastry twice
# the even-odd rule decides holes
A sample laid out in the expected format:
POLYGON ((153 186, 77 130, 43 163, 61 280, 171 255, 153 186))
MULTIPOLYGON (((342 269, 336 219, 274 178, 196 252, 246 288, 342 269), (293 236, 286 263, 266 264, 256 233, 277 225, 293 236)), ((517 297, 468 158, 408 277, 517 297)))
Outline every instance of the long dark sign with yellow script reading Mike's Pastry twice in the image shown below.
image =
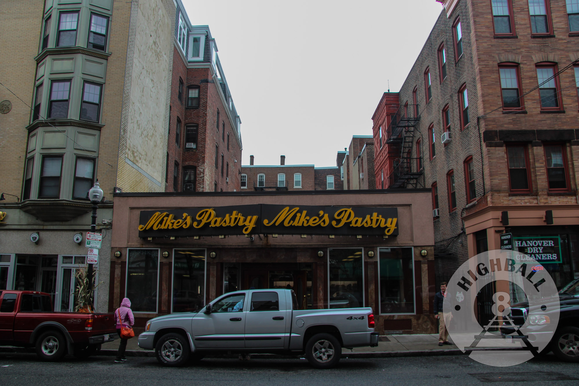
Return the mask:
POLYGON ((398 209, 369 206, 240 205, 141 211, 139 237, 398 235, 398 209))

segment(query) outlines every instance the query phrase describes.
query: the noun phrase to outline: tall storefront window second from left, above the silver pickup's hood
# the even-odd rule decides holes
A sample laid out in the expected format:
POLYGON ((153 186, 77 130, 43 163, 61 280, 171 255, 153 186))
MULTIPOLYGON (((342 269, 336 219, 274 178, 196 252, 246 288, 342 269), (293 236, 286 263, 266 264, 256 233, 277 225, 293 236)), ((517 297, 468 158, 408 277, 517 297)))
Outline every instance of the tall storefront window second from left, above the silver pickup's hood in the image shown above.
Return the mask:
POLYGON ((192 312, 205 304, 205 250, 175 249, 173 312, 192 312))

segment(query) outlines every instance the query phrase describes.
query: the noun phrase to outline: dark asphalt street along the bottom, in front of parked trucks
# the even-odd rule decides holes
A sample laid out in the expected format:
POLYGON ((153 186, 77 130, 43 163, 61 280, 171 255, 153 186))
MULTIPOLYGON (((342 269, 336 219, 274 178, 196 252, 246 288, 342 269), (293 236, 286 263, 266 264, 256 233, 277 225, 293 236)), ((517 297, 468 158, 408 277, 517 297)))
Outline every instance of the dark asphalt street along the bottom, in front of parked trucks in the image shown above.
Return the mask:
POLYGON ((0 385, 526 385, 579 384, 579 366, 554 356, 512 367, 481 365, 466 355, 342 359, 336 369, 316 370, 305 359, 203 359, 181 368, 155 358, 67 357, 43 363, 35 354, 0 354, 0 385))

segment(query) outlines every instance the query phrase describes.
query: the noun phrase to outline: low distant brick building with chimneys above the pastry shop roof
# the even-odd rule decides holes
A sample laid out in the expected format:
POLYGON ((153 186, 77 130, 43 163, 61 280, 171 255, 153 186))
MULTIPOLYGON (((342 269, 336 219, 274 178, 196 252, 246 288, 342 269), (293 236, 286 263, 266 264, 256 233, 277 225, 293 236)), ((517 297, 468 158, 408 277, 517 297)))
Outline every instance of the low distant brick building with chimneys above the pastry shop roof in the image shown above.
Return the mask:
MULTIPOLYGON (((336 157, 340 166, 343 154, 336 157)), ((250 155, 250 165, 241 166, 241 190, 343 190, 340 166, 285 165, 285 155, 280 165, 254 165, 250 155)))

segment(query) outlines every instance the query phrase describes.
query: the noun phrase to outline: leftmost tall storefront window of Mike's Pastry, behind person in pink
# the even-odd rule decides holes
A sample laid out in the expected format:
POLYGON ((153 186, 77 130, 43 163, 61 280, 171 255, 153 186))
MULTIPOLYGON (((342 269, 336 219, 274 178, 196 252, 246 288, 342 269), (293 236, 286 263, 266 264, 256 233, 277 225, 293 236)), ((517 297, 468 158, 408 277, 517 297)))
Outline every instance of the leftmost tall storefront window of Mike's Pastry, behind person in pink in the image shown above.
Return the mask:
POLYGON ((126 296, 133 312, 157 312, 159 250, 129 249, 126 296))

